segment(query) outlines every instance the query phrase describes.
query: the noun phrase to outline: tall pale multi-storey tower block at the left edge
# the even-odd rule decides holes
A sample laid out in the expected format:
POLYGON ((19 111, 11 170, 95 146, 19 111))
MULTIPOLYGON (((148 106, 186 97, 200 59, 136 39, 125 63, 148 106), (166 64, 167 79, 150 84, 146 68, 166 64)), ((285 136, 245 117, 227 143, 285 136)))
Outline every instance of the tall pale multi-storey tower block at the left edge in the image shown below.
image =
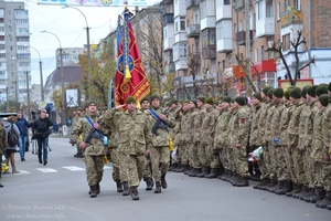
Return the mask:
POLYGON ((28 101, 31 86, 29 12, 24 2, 0 1, 1 99, 28 101), (8 90, 8 93, 7 93, 8 90))

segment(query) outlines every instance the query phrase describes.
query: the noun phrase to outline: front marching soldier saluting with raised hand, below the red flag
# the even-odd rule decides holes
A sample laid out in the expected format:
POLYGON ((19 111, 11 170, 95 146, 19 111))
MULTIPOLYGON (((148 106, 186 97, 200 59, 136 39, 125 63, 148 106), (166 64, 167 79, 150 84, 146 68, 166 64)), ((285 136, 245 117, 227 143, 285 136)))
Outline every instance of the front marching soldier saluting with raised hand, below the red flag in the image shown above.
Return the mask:
POLYGON ((117 112, 117 109, 125 106, 120 105, 110 109, 104 116, 106 122, 114 117, 117 118, 115 126, 118 129, 118 146, 122 146, 121 149, 125 149, 127 154, 132 200, 139 200, 137 188, 145 171, 145 155, 149 155, 152 145, 148 117, 137 109, 135 97, 129 96, 126 99, 126 112, 117 112))

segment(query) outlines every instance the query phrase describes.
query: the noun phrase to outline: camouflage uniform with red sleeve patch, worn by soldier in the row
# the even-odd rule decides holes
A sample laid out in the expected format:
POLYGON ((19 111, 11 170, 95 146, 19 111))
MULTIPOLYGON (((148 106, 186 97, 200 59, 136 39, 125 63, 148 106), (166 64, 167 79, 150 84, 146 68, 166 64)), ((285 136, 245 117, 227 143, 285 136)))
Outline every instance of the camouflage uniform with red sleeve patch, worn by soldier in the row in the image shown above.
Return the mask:
POLYGON ((248 143, 248 113, 244 107, 233 110, 228 123, 229 148, 234 148, 235 170, 242 178, 248 178, 246 146, 248 143), (239 144, 241 147, 236 147, 239 144))

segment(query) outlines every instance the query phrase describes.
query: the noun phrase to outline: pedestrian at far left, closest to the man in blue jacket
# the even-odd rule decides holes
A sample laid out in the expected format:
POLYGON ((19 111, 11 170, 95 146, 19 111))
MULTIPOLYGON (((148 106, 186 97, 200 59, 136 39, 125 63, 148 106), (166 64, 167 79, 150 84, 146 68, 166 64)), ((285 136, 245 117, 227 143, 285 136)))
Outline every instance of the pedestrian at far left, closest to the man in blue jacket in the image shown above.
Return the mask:
MULTIPOLYGON (((9 130, 11 130, 11 127, 13 127, 14 133, 17 134, 18 137, 20 137, 20 130, 18 126, 15 125, 17 117, 15 116, 9 116, 7 122, 4 123, 4 130, 6 135, 8 137, 9 130)), ((12 173, 19 173, 20 171, 17 170, 15 166, 15 158, 14 154, 17 152, 18 145, 10 146, 9 144, 7 145, 7 150, 6 150, 6 156, 7 156, 7 166, 9 166, 9 161, 12 167, 12 173)))

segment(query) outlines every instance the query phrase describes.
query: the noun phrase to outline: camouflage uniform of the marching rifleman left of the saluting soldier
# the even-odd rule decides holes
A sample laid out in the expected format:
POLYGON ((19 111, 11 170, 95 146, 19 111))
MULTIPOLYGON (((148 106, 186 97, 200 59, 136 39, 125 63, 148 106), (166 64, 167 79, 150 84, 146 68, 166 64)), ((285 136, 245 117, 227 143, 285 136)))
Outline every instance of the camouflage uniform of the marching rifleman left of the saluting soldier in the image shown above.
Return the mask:
MULTIPOLYGON (((92 122, 96 123, 99 118, 99 115, 87 114, 92 122)), ((77 126, 72 133, 72 139, 81 145, 85 137, 90 131, 90 124, 87 119, 79 118, 77 122, 77 126), (79 135, 83 136, 83 140, 79 140, 79 135)), ((100 131, 105 133, 105 129, 102 127, 100 131)), ((86 165, 86 175, 87 175, 87 182, 89 187, 94 187, 99 185, 103 179, 104 173, 104 155, 106 154, 106 148, 104 146, 103 140, 100 137, 95 133, 94 136, 90 138, 89 144, 86 144, 86 148, 84 150, 84 162, 86 165)))

